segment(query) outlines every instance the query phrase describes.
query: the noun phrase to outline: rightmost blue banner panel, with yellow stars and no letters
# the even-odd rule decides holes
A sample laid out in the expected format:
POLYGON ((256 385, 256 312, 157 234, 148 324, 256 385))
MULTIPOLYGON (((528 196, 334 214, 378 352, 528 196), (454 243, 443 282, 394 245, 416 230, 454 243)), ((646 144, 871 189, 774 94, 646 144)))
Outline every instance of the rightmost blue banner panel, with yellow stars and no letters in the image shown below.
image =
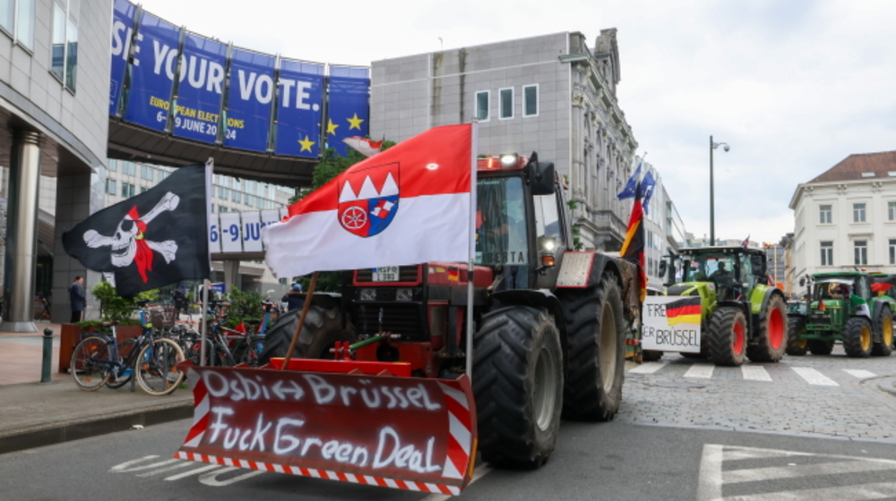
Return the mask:
POLYGON ((330 67, 327 98, 327 148, 347 155, 342 142, 352 136, 366 137, 369 132, 370 72, 367 68, 330 67))

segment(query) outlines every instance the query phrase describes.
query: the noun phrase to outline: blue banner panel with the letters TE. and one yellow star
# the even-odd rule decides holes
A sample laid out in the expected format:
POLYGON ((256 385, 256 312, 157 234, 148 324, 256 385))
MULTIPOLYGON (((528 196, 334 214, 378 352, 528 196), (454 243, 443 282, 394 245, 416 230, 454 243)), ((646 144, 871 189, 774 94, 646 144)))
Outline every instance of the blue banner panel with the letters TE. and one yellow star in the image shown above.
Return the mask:
POLYGON ((320 157, 323 64, 280 60, 275 153, 320 157))

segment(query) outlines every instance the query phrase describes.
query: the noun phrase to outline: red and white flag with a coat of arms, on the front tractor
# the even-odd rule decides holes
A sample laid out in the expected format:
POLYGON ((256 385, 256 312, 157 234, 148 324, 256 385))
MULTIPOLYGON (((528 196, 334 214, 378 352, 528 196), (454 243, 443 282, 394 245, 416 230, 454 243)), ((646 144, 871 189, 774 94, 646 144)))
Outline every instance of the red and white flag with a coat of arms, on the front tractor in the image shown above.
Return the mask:
POLYGON ((349 167, 263 230, 275 276, 470 259, 472 124, 423 132, 349 167))

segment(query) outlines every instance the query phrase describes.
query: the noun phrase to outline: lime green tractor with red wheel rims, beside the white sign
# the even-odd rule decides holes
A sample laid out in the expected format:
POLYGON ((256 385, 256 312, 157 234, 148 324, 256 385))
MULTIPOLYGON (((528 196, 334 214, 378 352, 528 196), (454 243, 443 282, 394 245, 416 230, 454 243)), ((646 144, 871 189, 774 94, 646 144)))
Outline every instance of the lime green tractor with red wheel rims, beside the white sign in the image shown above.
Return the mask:
POLYGON ((701 351, 683 355, 728 366, 780 361, 787 301, 768 284, 766 267, 764 250, 737 246, 684 249, 661 262, 667 295, 701 298, 701 351))

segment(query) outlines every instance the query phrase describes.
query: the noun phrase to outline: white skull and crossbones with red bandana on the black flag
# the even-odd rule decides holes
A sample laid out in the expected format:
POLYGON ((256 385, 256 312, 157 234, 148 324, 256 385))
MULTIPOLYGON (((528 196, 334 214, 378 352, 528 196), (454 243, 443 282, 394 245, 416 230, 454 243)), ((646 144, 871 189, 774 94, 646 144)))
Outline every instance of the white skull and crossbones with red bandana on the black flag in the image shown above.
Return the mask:
POLYGON ((165 242, 152 242, 146 240, 146 227, 159 214, 174 210, 180 202, 180 197, 168 191, 148 213, 142 217, 134 206, 118 223, 115 234, 106 236, 96 230, 84 232, 84 242, 90 248, 110 247, 109 255, 114 267, 128 267, 131 263, 137 265, 137 271, 143 283, 149 281, 147 272, 152 271, 153 251, 159 252, 166 263, 176 258, 177 242, 166 240, 165 242))

